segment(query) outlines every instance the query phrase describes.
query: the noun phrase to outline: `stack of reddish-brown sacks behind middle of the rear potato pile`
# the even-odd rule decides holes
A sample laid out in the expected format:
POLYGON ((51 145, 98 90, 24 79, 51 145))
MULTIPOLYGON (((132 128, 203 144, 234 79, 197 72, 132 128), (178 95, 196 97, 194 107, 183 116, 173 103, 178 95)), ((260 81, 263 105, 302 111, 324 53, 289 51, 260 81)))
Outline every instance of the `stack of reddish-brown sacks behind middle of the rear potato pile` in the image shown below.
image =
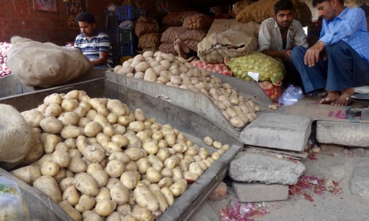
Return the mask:
POLYGON ((197 44, 204 39, 206 32, 212 24, 211 19, 198 12, 171 13, 162 20, 164 31, 159 50, 164 53, 177 55, 174 50, 176 36, 180 37, 184 44, 193 51, 197 51, 197 44))

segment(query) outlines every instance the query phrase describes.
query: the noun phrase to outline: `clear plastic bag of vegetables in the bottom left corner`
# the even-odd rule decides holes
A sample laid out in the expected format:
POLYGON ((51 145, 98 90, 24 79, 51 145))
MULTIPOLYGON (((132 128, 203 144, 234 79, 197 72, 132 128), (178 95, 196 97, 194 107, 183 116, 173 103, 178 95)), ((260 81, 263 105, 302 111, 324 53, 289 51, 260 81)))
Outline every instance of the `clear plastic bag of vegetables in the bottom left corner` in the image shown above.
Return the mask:
POLYGON ((18 185, 0 176, 0 221, 29 221, 30 213, 18 185))

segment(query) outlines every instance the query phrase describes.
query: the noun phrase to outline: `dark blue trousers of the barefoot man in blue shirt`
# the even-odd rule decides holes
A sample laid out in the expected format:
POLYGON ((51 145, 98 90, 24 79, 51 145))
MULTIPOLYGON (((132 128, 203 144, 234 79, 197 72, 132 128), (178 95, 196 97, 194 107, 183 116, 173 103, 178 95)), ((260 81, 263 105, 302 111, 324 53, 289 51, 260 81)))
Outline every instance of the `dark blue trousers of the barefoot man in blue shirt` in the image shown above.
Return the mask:
POLYGON ((291 52, 292 63, 299 71, 305 92, 326 88, 341 91, 369 83, 369 61, 362 58, 346 42, 326 46, 327 60, 313 67, 304 63, 307 49, 298 46, 291 52))

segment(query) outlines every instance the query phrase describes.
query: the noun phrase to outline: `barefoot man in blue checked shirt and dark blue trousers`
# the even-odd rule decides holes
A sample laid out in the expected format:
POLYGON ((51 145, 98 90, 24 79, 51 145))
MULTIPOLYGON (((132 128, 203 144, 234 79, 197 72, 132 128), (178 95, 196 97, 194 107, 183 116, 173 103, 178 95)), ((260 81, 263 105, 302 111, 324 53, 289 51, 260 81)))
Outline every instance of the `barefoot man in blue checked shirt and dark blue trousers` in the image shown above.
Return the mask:
POLYGON ((363 9, 344 7, 343 0, 313 0, 323 17, 319 41, 296 47, 291 55, 306 92, 322 89, 321 104, 349 105, 353 87, 369 83, 369 34, 363 9), (319 59, 325 48, 327 60, 319 59))

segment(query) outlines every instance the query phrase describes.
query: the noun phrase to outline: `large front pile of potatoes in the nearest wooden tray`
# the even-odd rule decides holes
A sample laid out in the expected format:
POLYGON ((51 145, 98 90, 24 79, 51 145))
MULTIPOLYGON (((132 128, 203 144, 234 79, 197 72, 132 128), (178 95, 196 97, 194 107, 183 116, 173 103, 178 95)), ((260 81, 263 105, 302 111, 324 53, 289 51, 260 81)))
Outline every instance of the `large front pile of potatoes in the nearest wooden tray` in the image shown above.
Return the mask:
POLYGON ((78 90, 22 115, 33 147, 10 172, 75 221, 154 221, 229 149, 211 153, 140 109, 78 90))

